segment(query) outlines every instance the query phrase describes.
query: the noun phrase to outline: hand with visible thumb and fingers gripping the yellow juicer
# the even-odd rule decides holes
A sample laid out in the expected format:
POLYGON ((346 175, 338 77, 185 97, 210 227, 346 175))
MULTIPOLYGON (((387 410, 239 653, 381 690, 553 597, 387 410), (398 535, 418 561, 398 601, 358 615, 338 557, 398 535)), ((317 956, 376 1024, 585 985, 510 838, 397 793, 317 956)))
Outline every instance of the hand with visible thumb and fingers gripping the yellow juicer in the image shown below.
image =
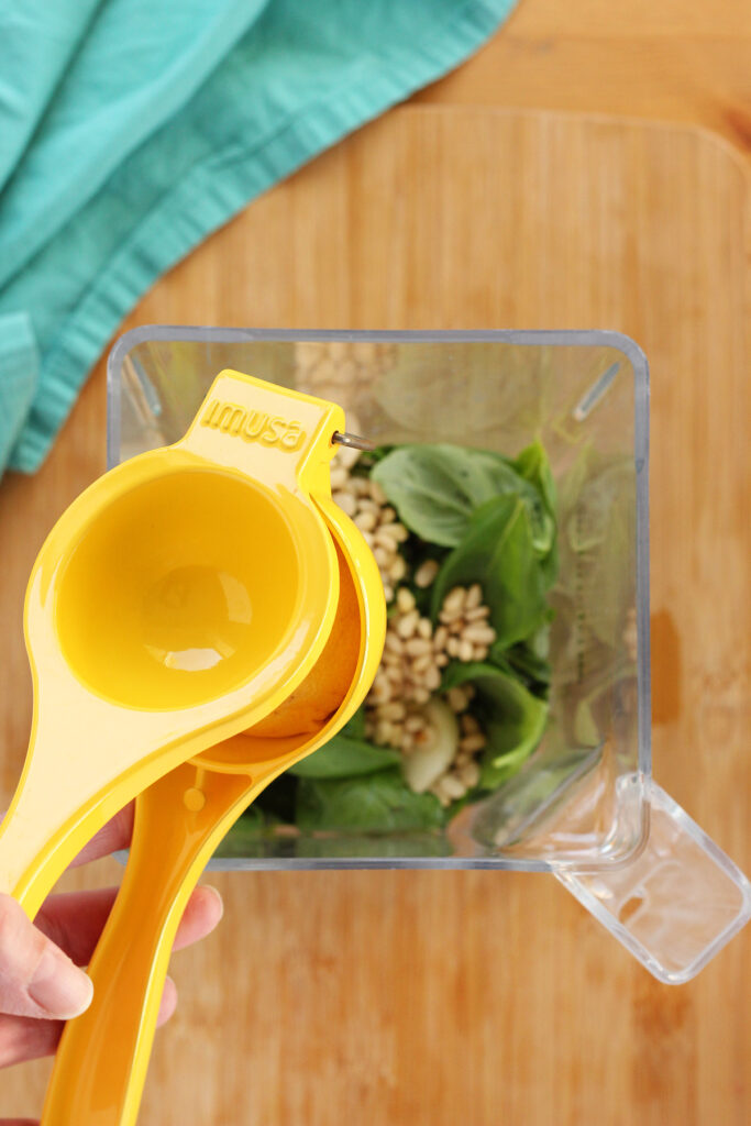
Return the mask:
MULTIPOLYGON (((89 841, 74 866, 127 848, 133 806, 117 814, 89 841)), ((32 923, 9 895, 0 895, 0 1067, 52 1055, 63 1022, 88 1009, 91 978, 78 968, 89 963, 117 895, 96 892, 51 895, 32 923)), ((175 949, 198 941, 222 918, 222 900, 211 887, 193 893, 175 949)), ((175 1012, 177 990, 167 978, 159 1024, 175 1012)), ((28 1119, 0 1119, 0 1126, 33 1126, 28 1119)))

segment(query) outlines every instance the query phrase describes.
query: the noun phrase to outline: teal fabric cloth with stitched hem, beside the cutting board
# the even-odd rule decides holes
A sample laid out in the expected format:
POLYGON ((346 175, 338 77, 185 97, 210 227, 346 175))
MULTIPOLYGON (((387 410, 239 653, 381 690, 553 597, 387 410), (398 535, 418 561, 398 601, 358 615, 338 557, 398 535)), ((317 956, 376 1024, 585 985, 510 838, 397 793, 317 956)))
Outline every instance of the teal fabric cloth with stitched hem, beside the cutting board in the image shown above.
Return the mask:
POLYGON ((479 47, 513 0, 6 0, 0 473, 154 278, 479 47))

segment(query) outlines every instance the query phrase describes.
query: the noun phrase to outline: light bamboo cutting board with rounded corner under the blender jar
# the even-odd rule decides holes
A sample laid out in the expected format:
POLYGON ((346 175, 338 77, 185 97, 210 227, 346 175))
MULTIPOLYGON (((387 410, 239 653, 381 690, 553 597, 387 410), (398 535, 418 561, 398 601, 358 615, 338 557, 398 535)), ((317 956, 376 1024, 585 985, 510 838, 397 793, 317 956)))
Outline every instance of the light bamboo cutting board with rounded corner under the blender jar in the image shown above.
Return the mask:
MULTIPOLYGON (((652 365, 656 778, 751 872, 749 182, 710 134, 399 109, 267 194, 128 318, 307 328, 609 328, 652 365)), ((0 489, 2 784, 29 722, 34 554, 105 464, 104 363, 34 480, 0 489)), ((106 753, 106 748, 102 748, 106 753)), ((113 861, 69 878, 93 886, 113 861)), ((659 985, 553 879, 235 874, 173 974, 160 1126, 742 1126, 751 931, 659 985)), ((3 1073, 38 1111, 48 1065, 3 1073)))

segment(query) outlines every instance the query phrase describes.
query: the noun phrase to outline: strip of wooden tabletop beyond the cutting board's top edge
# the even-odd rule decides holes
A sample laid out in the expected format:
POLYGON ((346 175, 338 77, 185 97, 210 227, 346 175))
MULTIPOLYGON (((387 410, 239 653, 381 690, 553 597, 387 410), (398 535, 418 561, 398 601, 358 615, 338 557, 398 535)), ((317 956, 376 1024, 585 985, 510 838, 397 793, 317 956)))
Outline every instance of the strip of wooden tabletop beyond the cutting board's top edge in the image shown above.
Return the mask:
POLYGON ((415 100, 686 122, 749 158, 751 3, 519 0, 468 65, 415 100))

